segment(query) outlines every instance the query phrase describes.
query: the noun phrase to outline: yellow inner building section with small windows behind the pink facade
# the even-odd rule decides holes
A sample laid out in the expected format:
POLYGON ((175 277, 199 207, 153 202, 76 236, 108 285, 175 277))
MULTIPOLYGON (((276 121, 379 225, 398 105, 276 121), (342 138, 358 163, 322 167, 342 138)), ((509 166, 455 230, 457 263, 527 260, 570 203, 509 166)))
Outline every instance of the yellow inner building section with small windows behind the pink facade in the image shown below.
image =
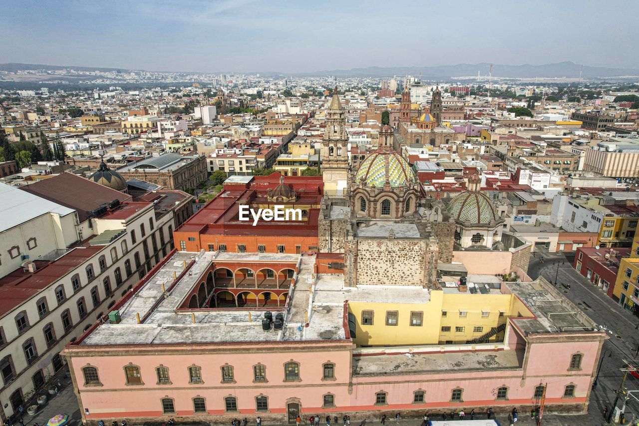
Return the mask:
MULTIPOLYGON (((503 288, 506 288, 505 286, 503 288)), ((358 346, 443 345, 497 342, 504 338, 508 317, 528 317, 532 313, 509 291, 459 292, 457 287, 431 290, 402 287, 414 293, 406 303, 349 300, 351 321, 355 323, 358 346)), ((391 290, 376 290, 387 292, 391 290)))

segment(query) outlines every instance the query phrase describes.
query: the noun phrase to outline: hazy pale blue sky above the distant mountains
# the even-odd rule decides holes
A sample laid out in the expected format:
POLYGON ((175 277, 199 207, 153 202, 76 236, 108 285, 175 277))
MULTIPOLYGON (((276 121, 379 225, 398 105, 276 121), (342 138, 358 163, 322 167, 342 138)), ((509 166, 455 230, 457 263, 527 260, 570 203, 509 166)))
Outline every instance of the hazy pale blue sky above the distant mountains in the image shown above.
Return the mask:
POLYGON ((0 0, 0 63, 166 71, 639 68, 639 1, 0 0))

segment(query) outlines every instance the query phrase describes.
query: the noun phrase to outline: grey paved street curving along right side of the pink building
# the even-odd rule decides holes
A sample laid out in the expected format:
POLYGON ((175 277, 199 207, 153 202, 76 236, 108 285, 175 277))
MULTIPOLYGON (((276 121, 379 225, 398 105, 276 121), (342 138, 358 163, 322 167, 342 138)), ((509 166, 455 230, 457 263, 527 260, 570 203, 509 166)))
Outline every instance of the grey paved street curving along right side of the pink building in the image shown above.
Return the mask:
MULTIPOLYGON (((639 319, 624 310, 603 290, 575 271, 572 267, 574 255, 564 256, 560 253, 548 253, 547 251, 541 255, 544 257, 543 263, 539 262, 539 252, 530 258, 528 267, 530 278, 535 279, 541 274, 546 280, 555 283, 555 277, 557 277, 557 287, 562 290, 564 295, 579 306, 590 319, 608 329, 610 339, 606 340, 603 345, 601 370, 597 387, 590 395, 588 411, 590 418, 601 418, 604 406, 612 408, 615 391, 619 388, 624 375, 620 368, 626 367, 624 359, 631 362, 636 361, 639 345, 636 327, 639 326, 639 319), (570 288, 567 288, 567 285, 570 285, 570 288)), ((625 387, 628 390, 639 390, 638 379, 628 375, 625 387)), ((621 404, 622 402, 619 402, 619 406, 621 404)), ((626 405, 626 420, 630 420, 633 416, 639 418, 639 403, 630 398, 626 405)), ((590 420, 589 423, 582 424, 600 423, 590 420)))

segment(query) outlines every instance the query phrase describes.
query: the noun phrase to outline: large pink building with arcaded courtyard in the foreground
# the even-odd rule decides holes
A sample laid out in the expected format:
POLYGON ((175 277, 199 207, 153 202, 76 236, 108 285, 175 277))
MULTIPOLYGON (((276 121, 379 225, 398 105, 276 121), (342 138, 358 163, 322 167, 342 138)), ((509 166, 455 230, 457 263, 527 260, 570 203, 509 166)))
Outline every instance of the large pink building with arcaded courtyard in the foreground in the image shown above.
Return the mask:
POLYGON ((344 288, 339 265, 316 255, 173 251, 114 306, 117 317, 63 351, 83 420, 360 419, 523 410, 542 398, 548 409, 587 409, 606 335, 543 278, 493 276, 481 292, 443 282, 344 288), (264 269, 293 273, 256 278, 264 269), (477 320, 464 306, 482 306, 477 320), (480 313, 495 319, 481 338, 439 336, 446 317, 476 326, 480 313), (399 341, 421 335, 423 344, 399 341), (387 343, 360 343, 367 338, 387 343))

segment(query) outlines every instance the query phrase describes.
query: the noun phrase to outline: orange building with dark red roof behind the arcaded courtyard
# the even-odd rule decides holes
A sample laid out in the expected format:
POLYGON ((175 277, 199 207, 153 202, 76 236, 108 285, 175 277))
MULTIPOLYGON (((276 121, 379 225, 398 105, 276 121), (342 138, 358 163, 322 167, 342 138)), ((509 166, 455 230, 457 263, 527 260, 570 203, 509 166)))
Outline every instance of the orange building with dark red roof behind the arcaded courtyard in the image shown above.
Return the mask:
POLYGON ((323 194, 321 177, 235 176, 224 189, 173 232, 180 251, 229 253, 303 253, 318 251, 318 216, 323 194), (258 219, 254 225, 240 220, 240 207, 254 212, 300 209, 300 217, 289 220, 258 219))

